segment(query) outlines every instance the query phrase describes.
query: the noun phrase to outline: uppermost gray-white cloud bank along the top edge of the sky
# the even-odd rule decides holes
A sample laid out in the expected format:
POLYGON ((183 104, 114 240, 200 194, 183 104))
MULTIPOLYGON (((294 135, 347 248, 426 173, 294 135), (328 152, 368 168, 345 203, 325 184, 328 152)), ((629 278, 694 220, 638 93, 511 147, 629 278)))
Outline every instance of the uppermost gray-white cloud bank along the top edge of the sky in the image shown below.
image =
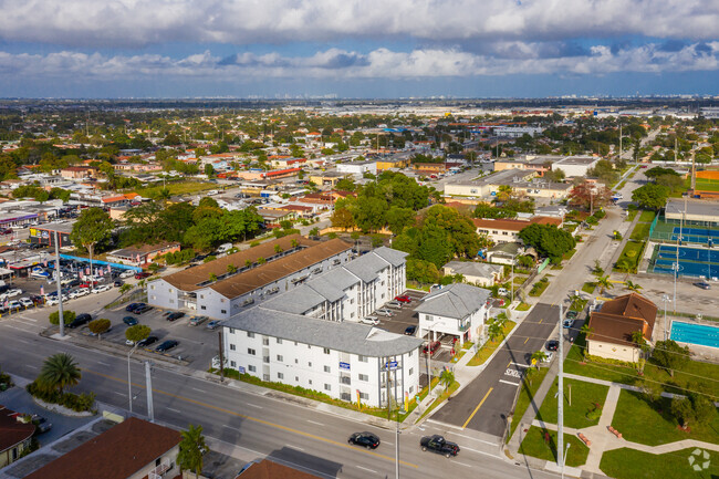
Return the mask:
POLYGON ((645 37, 713 41, 702 0, 0 0, 0 38, 95 49, 167 42, 285 44, 416 39, 546 42, 645 37))

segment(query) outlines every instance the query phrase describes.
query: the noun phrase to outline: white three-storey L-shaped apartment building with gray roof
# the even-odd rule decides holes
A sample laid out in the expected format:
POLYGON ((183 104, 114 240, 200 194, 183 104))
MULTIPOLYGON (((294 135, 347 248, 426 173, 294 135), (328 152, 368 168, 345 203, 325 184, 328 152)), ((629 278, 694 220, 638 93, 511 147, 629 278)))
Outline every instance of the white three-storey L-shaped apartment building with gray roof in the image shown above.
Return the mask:
POLYGON ((376 249, 233 315, 222 323, 229 366, 374 407, 414 397, 423 341, 357 322, 404 291, 405 257, 376 249))

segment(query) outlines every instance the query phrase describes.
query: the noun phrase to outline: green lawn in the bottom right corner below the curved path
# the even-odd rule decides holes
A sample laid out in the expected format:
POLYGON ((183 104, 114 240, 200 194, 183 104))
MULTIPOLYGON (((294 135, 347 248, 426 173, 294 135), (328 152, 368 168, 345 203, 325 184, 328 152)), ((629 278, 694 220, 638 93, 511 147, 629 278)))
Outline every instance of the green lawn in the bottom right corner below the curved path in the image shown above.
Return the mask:
MULTIPOLYGON (((605 475, 616 479, 655 479, 657 477, 671 479, 712 479, 718 477, 719 452, 707 451, 709 454, 709 468, 707 470, 696 471, 689 464, 689 456, 694 451, 695 449, 691 448, 654 455, 629 448, 615 449, 604 452, 602 462, 600 462, 600 469, 605 475), (664 471, 664 473, 659 471, 664 471)), ((704 464, 705 460, 702 457, 699 462, 704 464)), ((694 462, 697 464, 697 460, 695 459, 694 462)))

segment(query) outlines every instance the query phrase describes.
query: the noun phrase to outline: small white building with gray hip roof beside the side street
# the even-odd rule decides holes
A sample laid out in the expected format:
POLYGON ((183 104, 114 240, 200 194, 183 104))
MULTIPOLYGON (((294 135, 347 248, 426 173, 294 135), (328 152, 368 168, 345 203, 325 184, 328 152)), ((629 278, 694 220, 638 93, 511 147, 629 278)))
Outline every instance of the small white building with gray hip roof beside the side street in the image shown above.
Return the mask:
POLYGON ((430 341, 442 334, 461 343, 482 341, 489 319, 491 292, 469 284, 455 283, 434 291, 415 309, 419 316, 417 337, 429 335, 430 341))

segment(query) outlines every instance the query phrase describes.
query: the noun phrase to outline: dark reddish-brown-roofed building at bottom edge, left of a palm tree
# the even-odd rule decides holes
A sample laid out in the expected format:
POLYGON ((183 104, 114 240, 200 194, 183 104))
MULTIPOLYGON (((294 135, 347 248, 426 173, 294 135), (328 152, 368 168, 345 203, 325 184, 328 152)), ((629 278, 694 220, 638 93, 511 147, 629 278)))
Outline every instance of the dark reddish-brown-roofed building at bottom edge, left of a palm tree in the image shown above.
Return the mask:
POLYGON ((180 440, 174 429, 131 417, 25 478, 176 478, 180 440))

